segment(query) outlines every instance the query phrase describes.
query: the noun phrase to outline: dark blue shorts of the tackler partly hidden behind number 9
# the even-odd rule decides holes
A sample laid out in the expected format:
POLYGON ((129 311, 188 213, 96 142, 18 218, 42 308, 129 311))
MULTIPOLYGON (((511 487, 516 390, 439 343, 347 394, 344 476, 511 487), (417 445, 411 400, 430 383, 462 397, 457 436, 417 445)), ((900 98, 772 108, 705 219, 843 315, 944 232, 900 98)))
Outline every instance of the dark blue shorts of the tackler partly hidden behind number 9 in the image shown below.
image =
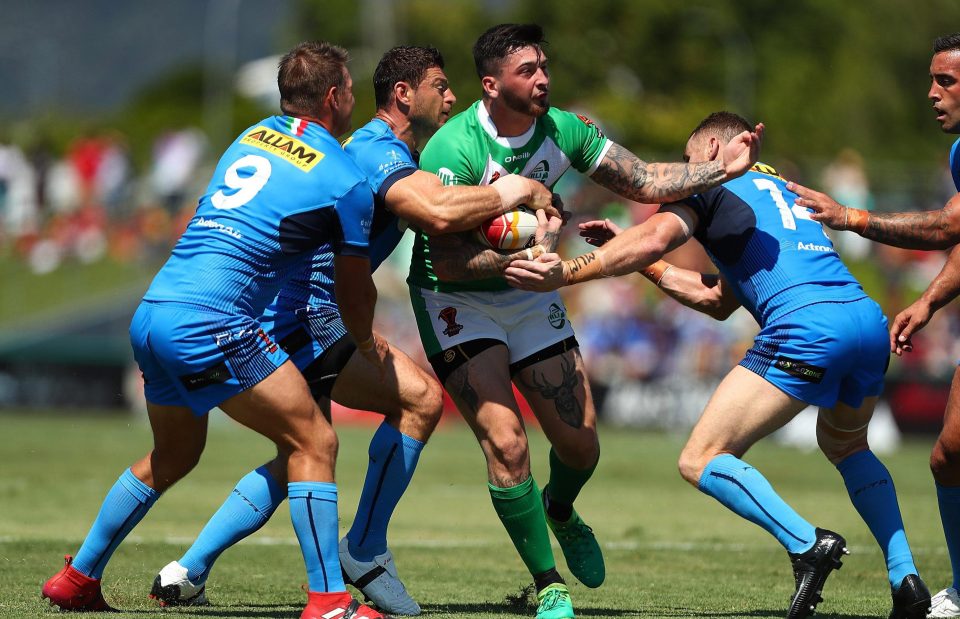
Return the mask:
POLYGON ((296 309, 270 306, 260 324, 290 355, 313 398, 329 398, 337 376, 356 350, 340 309, 333 303, 296 309))

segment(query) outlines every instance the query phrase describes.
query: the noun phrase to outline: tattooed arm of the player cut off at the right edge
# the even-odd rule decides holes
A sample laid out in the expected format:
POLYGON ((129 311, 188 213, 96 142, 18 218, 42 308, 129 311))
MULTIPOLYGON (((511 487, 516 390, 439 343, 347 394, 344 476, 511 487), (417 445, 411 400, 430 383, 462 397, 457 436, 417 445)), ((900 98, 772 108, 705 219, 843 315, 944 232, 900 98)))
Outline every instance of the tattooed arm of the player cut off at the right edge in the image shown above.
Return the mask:
POLYGON ((863 236, 907 249, 946 249, 960 241, 951 232, 948 208, 917 213, 870 213, 863 236))

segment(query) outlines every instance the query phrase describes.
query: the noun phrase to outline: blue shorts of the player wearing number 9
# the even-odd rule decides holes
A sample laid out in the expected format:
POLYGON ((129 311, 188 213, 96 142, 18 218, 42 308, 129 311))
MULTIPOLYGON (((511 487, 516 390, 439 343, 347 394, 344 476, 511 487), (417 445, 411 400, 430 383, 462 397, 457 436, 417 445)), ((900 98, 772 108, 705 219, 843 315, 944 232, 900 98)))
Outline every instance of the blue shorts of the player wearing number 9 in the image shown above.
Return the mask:
POLYGON ((256 320, 179 303, 141 302, 130 343, 147 401, 188 406, 198 416, 288 359, 256 320))

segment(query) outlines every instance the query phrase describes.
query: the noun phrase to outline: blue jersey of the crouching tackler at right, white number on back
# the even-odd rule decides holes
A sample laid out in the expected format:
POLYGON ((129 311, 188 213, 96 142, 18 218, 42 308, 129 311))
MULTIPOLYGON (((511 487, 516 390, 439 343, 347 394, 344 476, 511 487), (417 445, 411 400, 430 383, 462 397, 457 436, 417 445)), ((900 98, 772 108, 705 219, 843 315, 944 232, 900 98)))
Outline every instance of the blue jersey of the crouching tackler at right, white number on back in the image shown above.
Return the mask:
POLYGON ((776 170, 757 164, 681 201, 699 218, 694 237, 761 326, 806 305, 866 296, 796 197, 776 170))

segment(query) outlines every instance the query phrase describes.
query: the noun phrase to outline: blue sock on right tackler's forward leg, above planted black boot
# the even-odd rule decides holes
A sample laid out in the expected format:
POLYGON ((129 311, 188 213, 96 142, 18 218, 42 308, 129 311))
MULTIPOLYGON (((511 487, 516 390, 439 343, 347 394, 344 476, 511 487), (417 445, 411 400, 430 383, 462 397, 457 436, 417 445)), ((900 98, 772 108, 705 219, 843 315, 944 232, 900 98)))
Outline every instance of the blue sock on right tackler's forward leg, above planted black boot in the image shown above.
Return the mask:
POLYGON ((813 525, 780 498, 760 471, 736 456, 723 454, 711 460, 703 469, 699 488, 766 529, 787 552, 809 550, 817 539, 813 525))

